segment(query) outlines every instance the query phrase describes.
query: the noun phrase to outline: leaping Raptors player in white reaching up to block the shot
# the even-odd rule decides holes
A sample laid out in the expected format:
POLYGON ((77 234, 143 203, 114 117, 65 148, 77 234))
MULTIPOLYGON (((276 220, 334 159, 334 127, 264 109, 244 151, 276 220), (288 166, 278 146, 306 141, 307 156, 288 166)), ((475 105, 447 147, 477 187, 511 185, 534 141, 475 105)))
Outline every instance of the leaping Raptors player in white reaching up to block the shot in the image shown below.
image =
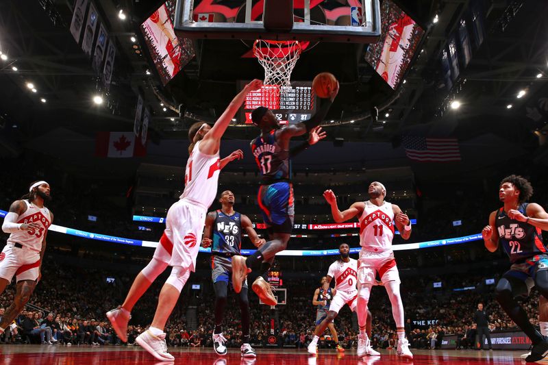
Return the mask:
MULTIPOLYGON (((206 123, 195 123, 188 131, 191 143, 190 157, 185 170, 185 188, 179 201, 169 208, 166 216, 166 229, 160 239, 160 244, 168 253, 171 253, 169 265, 173 268, 160 291, 158 307, 151 326, 136 338, 136 342, 141 347, 160 361, 173 361, 174 359, 173 355, 167 352, 166 333, 163 330, 179 299, 179 294, 186 284, 190 271, 195 270, 203 223, 206 220, 208 207, 215 199, 217 192, 221 168, 219 164, 221 137, 245 100, 247 93, 257 90, 261 86, 262 81, 260 80, 253 80, 247 84, 234 97, 213 127, 206 123)), ((129 313, 124 313, 120 308, 111 311, 109 319, 111 322, 117 323, 120 318, 121 325, 117 327, 121 328, 123 325, 127 326, 128 317, 129 313)))

